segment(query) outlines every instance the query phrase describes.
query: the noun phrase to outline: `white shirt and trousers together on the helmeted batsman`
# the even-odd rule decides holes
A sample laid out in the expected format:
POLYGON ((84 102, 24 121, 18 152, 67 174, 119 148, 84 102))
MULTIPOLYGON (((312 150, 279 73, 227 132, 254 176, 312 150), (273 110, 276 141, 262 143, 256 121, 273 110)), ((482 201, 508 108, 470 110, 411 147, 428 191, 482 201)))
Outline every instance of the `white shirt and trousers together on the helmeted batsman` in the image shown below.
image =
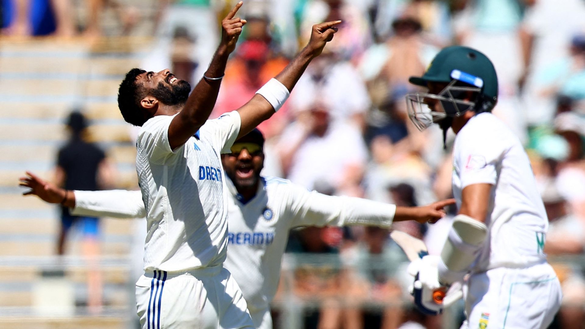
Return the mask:
POLYGON ((465 187, 494 186, 488 239, 463 286, 467 320, 461 328, 548 327, 561 292, 543 253, 548 218, 528 155, 490 113, 471 118, 453 148, 453 196, 459 207, 465 187))

